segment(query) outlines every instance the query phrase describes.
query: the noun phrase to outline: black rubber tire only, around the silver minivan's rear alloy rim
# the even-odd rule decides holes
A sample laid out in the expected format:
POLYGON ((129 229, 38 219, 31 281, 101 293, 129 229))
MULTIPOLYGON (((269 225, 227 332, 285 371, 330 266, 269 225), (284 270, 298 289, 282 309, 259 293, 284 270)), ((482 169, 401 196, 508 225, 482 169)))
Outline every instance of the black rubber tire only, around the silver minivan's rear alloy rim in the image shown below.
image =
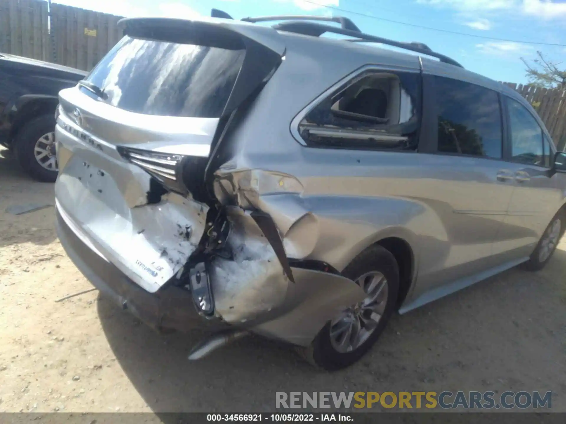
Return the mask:
MULTIPOLYGON (((351 280, 357 281, 361 276, 367 274, 371 275, 372 272, 377 275, 383 275, 386 280, 385 284, 387 285, 387 293, 384 293, 385 296, 383 297, 383 300, 387 300, 387 303, 384 306, 384 310, 379 321, 377 321, 377 325, 372 328, 372 332, 367 339, 362 341, 357 347, 353 348, 349 352, 339 352, 335 339, 336 336, 335 338, 331 337, 331 328, 336 328, 338 324, 335 324, 334 327, 332 327, 334 320, 328 322, 323 329, 320 330, 311 345, 303 351, 303 356, 305 356, 306 360, 311 362, 311 364, 321 367, 327 371, 345 368, 358 361, 379 339, 379 336, 383 332, 385 326, 387 326, 389 318, 391 318, 391 314, 395 310, 397 302, 397 294, 399 291, 399 268, 395 257, 391 254, 391 252, 389 252, 389 250, 382 246, 374 245, 354 258, 342 274, 351 280)), ((368 292, 366 291, 366 293, 368 292)), ((368 293, 368 298, 369 297, 371 296, 368 293)))

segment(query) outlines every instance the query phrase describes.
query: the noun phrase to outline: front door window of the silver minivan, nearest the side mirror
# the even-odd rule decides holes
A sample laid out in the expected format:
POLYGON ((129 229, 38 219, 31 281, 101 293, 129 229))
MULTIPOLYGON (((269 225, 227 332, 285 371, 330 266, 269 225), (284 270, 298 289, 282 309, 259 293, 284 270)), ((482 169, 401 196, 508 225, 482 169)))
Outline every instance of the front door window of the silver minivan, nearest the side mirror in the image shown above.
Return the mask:
POLYGON ((542 128, 521 103, 508 98, 511 127, 511 160, 525 165, 544 165, 542 128))

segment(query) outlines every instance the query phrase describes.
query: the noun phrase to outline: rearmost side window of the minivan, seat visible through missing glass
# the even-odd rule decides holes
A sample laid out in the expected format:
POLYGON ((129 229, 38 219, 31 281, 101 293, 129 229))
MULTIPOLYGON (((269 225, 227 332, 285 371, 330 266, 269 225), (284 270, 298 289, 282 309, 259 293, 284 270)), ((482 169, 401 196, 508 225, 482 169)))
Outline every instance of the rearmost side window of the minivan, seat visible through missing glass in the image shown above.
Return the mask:
POLYGON ((315 106, 299 123, 307 145, 337 148, 417 148, 420 75, 362 72, 315 106))

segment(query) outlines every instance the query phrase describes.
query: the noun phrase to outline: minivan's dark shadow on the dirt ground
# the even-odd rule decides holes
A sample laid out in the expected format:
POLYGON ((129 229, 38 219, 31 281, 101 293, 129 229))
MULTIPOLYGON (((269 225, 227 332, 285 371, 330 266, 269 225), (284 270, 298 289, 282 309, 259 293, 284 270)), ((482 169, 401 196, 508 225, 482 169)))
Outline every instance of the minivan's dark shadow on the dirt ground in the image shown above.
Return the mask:
POLYGON ((564 271, 566 252, 558 250, 542 272, 512 269, 396 315, 358 364, 336 373, 259 337, 189 362, 202 334, 160 336, 105 298, 98 314, 119 364, 155 412, 270 411, 276 391, 417 390, 551 390, 553 409, 566 410, 566 384, 549 383, 565 374, 564 271))

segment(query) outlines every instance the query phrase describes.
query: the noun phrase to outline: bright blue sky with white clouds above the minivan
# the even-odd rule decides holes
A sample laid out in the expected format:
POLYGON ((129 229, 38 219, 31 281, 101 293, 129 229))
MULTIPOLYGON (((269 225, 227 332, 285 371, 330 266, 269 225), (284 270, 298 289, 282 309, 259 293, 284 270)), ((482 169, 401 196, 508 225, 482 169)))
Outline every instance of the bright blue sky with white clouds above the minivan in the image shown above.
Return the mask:
POLYGON ((245 16, 342 15, 363 32, 420 41, 495 80, 526 83, 520 57, 541 50, 566 68, 566 1, 550 0, 52 0, 121 16, 209 16, 211 8, 245 16), (364 16, 369 15, 369 16, 364 16), (380 19, 376 19, 380 18, 380 19), (398 21, 396 23, 393 21, 398 21), (404 23, 404 24, 401 24, 404 23), (456 33, 434 31, 413 25, 456 33), (481 38, 481 37, 492 37, 481 38), (496 40, 505 39, 513 41, 496 40), (536 45, 530 42, 561 44, 536 45))

